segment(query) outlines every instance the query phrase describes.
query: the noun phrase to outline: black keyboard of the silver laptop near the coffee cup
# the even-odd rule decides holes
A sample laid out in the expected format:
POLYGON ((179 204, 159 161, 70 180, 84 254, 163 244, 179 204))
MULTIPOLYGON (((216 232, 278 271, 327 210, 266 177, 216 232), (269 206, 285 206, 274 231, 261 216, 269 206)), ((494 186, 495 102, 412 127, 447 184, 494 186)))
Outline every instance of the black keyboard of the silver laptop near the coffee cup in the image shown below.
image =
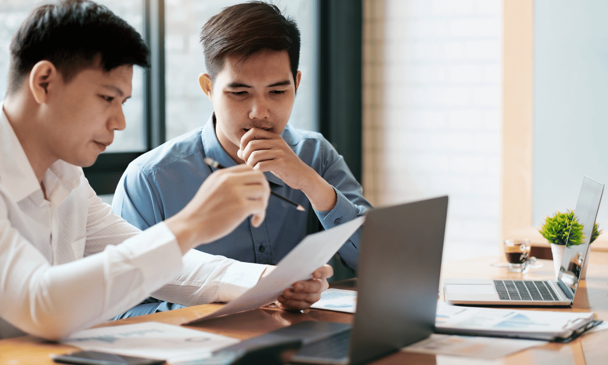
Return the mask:
POLYGON ((557 301, 558 296, 547 281, 494 280, 502 301, 557 301))

